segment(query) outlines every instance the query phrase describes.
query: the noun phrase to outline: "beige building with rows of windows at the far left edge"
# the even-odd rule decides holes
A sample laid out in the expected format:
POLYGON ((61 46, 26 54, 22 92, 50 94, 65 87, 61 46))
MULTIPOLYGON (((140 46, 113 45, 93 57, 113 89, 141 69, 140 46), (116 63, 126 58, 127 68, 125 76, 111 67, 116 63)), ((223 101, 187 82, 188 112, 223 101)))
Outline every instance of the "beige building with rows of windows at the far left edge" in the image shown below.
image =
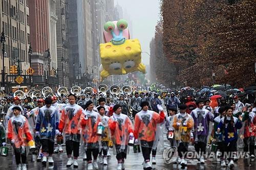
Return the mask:
MULTIPOLYGON (((0 1, 0 26, 1 32, 5 33, 5 52, 6 58, 1 56, 1 63, 3 58, 5 60, 5 73, 10 74, 10 66, 17 65, 19 74, 25 74, 29 68, 29 41, 30 41, 30 26, 27 1, 25 0, 1 0, 0 1)), ((1 52, 2 52, 1 44, 1 52)), ((0 64, 0 69, 3 65, 0 64)), ((1 79, 2 80, 2 79, 1 79)), ((14 82, 14 79, 8 78, 6 83, 14 82)))

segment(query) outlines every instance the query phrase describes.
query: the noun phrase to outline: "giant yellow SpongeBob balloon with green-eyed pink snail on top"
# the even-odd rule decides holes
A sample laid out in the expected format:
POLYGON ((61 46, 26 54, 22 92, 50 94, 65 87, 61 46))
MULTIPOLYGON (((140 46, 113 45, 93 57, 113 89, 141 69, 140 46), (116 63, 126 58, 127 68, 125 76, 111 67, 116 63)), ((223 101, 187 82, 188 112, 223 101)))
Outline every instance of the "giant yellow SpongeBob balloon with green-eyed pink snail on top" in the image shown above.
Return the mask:
POLYGON ((130 39, 127 22, 109 21, 104 25, 104 44, 100 44, 100 76, 125 75, 133 71, 145 74, 141 63, 141 47, 138 39, 130 39))

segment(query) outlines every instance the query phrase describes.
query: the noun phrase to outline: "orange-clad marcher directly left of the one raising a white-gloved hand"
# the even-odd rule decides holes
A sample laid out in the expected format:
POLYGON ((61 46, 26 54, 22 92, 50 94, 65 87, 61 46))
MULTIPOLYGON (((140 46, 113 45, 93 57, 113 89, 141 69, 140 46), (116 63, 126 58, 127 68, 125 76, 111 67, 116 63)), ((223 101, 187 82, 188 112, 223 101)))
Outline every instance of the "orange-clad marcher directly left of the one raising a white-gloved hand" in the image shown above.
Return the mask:
POLYGON ((134 128, 130 118, 121 113, 122 107, 120 105, 115 105, 113 110, 114 113, 109 119, 109 127, 116 150, 117 169, 121 170, 124 169, 124 159, 126 158, 129 135, 134 136, 134 128))

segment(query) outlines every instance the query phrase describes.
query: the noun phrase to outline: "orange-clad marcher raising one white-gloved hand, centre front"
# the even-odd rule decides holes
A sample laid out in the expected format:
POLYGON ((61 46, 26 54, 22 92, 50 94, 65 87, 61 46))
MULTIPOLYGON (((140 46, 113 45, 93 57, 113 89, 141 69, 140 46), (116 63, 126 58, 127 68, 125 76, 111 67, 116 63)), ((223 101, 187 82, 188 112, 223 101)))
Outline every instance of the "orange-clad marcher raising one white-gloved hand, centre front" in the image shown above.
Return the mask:
POLYGON ((135 115, 134 136, 136 142, 140 140, 141 150, 144 157, 143 168, 146 170, 152 169, 150 165, 150 154, 155 140, 156 125, 164 120, 163 108, 158 105, 160 114, 148 110, 149 103, 142 102, 140 107, 142 110, 135 115))

